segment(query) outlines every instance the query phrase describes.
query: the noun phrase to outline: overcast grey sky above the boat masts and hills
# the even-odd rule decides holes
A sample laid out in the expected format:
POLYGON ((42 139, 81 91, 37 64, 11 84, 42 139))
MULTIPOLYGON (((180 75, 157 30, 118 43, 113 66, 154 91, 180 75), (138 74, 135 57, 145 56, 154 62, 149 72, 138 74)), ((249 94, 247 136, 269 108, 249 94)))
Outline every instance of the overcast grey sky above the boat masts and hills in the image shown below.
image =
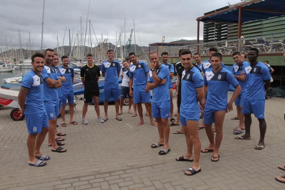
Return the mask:
MULTIPOLYGON (((239 0, 91 0, 88 20, 91 20, 98 38, 109 36, 109 42, 115 44, 116 31, 119 36, 120 28, 126 20, 126 42, 136 25, 136 44, 148 46, 149 43, 165 42, 197 37, 196 18, 204 13, 239 0), (141 42, 139 41, 139 38, 141 42)), ((68 29, 76 36, 80 30, 80 16, 82 27, 86 27, 89 0, 46 0, 44 16, 44 47, 56 48, 58 35, 59 45, 62 46, 64 31, 67 26, 64 45, 69 45, 68 29)), ((34 50, 41 46, 41 21, 43 0, 1 0, 0 1, 0 46, 5 46, 5 36, 9 47, 19 47, 18 29, 21 31, 22 47, 26 49, 27 40, 33 42, 34 50)), ((89 24, 88 24, 89 28, 89 24)), ((84 29, 85 30, 85 29, 84 29)), ((88 29, 89 30, 89 29, 88 29)), ((91 28, 92 44, 96 38, 91 28)), ((87 31, 86 45, 89 31, 87 31)), ((85 32, 84 32, 85 37, 85 32)), ((124 30, 121 36, 124 43, 124 30)), ((203 23, 200 23, 200 39, 203 39, 203 23)), ((134 37, 132 44, 134 44, 134 37)), ((44 48, 44 49, 45 49, 44 48)))

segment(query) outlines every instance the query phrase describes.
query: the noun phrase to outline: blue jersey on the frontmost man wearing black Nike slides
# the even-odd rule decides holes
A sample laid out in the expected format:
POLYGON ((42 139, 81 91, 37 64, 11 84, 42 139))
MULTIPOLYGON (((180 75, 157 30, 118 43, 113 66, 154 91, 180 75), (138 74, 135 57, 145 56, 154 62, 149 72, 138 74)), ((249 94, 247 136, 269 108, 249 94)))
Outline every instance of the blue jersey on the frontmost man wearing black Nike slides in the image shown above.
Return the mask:
POLYGON ((200 108, 197 101, 196 88, 204 86, 204 79, 201 72, 196 67, 192 67, 189 71, 182 72, 181 79, 181 105, 180 113, 188 113, 189 110, 195 110, 195 113, 200 113, 200 108))

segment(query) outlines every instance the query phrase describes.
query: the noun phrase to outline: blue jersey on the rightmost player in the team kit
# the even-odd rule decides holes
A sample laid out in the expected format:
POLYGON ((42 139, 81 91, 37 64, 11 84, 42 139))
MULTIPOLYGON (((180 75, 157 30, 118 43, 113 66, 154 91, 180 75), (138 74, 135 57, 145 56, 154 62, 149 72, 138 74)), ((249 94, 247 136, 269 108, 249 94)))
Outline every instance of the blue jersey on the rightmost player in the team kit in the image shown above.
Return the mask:
POLYGON ((253 67, 250 65, 245 68, 247 73, 247 90, 245 97, 247 99, 265 100, 264 81, 270 80, 268 67, 262 62, 257 62, 253 67))

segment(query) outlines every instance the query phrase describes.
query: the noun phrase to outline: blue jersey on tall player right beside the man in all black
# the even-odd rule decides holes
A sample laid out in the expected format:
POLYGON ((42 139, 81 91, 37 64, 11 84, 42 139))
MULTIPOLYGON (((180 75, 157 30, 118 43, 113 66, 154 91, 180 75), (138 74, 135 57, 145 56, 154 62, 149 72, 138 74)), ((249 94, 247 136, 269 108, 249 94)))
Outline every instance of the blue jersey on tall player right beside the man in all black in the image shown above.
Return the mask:
POLYGON ((101 66, 102 73, 105 73, 104 85, 117 85, 118 82, 118 72, 121 70, 120 62, 113 60, 110 63, 108 60, 104 61, 101 66))

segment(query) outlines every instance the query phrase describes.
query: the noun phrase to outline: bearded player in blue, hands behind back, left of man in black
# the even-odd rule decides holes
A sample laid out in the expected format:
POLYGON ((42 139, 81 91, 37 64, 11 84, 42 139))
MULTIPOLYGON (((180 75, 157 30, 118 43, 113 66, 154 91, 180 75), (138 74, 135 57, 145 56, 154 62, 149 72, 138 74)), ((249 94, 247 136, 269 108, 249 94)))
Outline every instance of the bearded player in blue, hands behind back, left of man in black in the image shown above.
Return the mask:
POLYGON ((65 106, 66 99, 68 101, 69 107, 69 115, 70 115, 70 124, 76 125, 77 122, 73 120, 73 112, 74 112, 74 88, 73 88, 73 80, 74 80, 74 69, 70 67, 69 60, 67 56, 61 57, 62 65, 58 68, 60 73, 64 75, 66 81, 62 82, 62 102, 61 102, 61 116, 62 116, 62 124, 61 126, 66 126, 65 121, 65 106))

